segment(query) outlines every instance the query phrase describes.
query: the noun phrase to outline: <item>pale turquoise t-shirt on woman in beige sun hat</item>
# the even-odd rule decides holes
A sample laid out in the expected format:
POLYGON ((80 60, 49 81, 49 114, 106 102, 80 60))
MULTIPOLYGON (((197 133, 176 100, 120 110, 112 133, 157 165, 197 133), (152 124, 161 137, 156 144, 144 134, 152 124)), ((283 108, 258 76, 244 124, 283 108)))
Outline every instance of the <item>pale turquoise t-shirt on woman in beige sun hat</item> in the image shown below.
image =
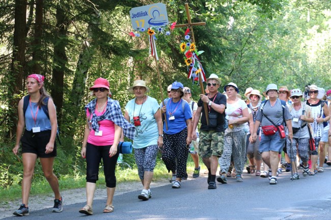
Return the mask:
POLYGON ((130 117, 130 123, 134 125, 133 116, 139 116, 141 125, 135 126, 135 136, 133 148, 140 149, 150 145, 157 145, 158 129, 154 114, 159 111, 159 105, 156 99, 146 96, 146 101, 139 105, 135 104, 135 98, 130 100, 125 110, 130 117), (133 113, 134 110, 134 113, 133 113))

